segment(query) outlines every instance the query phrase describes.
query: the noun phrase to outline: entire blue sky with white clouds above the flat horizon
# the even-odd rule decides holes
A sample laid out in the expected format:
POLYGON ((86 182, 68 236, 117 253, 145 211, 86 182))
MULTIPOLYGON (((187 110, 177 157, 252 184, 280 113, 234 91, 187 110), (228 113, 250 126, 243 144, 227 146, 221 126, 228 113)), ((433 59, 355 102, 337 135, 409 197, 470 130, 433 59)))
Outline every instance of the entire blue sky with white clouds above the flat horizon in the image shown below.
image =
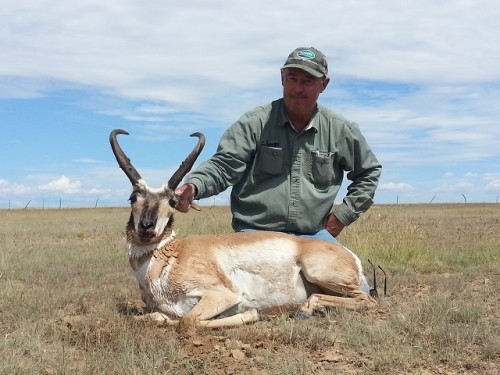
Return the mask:
POLYGON ((281 96, 299 46, 327 55, 320 103, 383 164, 376 203, 500 201, 497 1, 5 0, 0 19, 0 208, 127 205, 112 129, 159 187, 189 134, 207 159, 281 96))

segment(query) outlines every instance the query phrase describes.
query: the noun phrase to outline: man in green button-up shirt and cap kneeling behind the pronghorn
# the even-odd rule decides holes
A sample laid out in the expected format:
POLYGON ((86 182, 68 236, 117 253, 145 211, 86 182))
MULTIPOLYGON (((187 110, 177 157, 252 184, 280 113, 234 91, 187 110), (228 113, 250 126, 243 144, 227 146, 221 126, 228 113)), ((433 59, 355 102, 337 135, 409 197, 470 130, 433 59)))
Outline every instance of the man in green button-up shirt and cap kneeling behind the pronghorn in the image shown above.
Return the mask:
POLYGON ((358 126, 318 105, 328 64, 315 48, 297 48, 281 68, 283 98, 244 114, 217 152, 176 190, 177 209, 233 186, 235 231, 274 230, 336 241, 373 203, 381 165, 358 126), (344 172, 351 180, 334 206, 344 172))

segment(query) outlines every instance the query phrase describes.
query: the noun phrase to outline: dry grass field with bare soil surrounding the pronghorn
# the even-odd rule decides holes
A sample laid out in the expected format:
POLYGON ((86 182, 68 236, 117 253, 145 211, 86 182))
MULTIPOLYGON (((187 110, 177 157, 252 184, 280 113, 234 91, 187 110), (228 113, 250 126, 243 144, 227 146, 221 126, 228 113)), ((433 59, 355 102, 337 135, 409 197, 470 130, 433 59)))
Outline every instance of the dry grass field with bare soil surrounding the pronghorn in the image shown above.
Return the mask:
MULTIPOLYGON (((124 310, 128 215, 0 211, 0 374, 500 374, 500 204, 374 206, 346 228, 369 280, 368 259, 388 274, 377 309, 190 334, 124 310)), ((176 216, 179 237, 229 222, 176 216)))

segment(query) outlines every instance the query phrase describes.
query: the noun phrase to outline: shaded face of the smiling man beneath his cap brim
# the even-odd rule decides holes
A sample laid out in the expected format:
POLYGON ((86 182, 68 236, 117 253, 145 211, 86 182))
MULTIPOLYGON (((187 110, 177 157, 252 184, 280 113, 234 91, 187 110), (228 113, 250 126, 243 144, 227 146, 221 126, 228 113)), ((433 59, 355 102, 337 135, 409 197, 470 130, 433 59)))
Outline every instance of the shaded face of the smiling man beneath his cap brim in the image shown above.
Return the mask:
POLYGON ((317 78, 302 69, 284 69, 281 84, 287 110, 292 114, 309 116, 329 81, 329 78, 317 78))

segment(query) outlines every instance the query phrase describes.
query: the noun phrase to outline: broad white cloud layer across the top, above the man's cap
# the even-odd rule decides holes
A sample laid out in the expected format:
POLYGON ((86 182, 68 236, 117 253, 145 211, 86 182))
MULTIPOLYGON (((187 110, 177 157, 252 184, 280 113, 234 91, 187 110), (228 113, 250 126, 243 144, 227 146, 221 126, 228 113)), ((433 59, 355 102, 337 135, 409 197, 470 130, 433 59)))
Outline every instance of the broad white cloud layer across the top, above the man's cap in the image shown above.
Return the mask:
POLYGON ((175 9, 131 1, 6 3, 1 43, 10 58, 0 62, 0 75, 92 85, 128 98, 196 105, 227 85, 270 85, 286 54, 306 43, 330 57, 334 76, 420 83, 500 78, 494 2, 323 0, 315 7, 334 22, 314 27, 304 25, 310 6, 298 1, 191 1, 175 9), (199 90, 207 84, 211 90, 199 90))

